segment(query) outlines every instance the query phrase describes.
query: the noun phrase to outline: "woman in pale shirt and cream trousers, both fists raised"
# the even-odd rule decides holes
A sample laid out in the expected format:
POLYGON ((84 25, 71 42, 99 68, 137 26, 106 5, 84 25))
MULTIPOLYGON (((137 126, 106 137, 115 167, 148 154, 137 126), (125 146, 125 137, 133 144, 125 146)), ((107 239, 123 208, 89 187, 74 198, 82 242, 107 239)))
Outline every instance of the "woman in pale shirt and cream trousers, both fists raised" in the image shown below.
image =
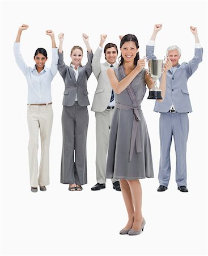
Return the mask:
POLYGON ((38 185, 41 191, 46 191, 46 185, 49 184, 49 145, 50 134, 53 123, 53 109, 51 96, 51 82, 57 73, 58 51, 54 39, 54 32, 46 30, 52 40, 52 64, 50 68, 45 67, 48 59, 44 48, 38 48, 35 52, 35 66, 28 67, 24 63, 22 53, 20 52, 20 37, 23 30, 29 26, 23 24, 19 27, 18 35, 14 43, 14 55, 18 67, 26 76, 28 85, 28 106, 27 122, 29 129, 29 174, 31 191, 37 192, 38 185), (38 170, 37 150, 39 147, 39 130, 41 138, 41 160, 38 170))

